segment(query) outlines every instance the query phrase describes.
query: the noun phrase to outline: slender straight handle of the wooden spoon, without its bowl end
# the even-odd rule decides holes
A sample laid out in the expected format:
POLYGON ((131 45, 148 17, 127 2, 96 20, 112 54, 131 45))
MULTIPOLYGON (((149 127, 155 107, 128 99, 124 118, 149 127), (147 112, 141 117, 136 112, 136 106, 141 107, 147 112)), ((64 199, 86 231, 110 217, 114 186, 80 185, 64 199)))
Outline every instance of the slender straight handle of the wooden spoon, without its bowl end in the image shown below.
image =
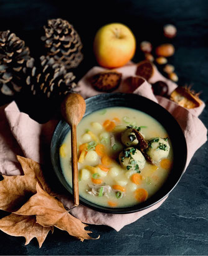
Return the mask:
POLYGON ((73 203, 79 205, 78 195, 78 165, 77 165, 77 126, 72 125, 72 184, 73 184, 73 203))

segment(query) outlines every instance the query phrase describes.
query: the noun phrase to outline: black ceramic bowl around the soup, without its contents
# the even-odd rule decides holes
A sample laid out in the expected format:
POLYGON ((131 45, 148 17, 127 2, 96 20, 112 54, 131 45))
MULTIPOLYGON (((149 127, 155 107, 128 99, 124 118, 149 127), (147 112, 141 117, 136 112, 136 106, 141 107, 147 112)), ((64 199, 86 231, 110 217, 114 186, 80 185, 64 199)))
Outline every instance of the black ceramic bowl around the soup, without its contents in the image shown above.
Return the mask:
MULTIPOLYGON (((181 130, 181 127, 174 119, 174 117, 171 116, 171 114, 169 114, 166 109, 159 106, 159 104, 156 104, 155 102, 136 94, 99 94, 98 96, 93 96, 87 99, 86 106, 85 116, 91 114, 94 111, 98 111, 99 109, 118 106, 138 109, 139 111, 143 111, 149 116, 154 117, 154 119, 163 125, 169 134, 169 138, 171 139, 173 145, 174 163, 173 169, 171 170, 164 185, 161 187, 161 189, 158 190, 158 192, 156 192, 156 194, 151 196, 145 202, 142 202, 138 205, 133 205, 132 207, 109 208, 93 204, 92 202, 83 199, 83 197, 80 196, 80 204, 86 205, 100 212, 111 214, 130 214, 132 212, 138 212, 140 210, 147 209, 148 207, 151 207, 160 200, 164 199, 164 197, 166 197, 174 189, 177 182, 179 182, 181 179, 186 165, 187 157, 186 139, 181 130)), ((70 194, 72 194, 72 187, 70 187, 70 185, 65 180, 64 175, 62 174, 59 158, 60 145, 62 144, 65 135, 67 135, 69 130, 70 127, 65 121, 59 122, 52 137, 50 155, 55 174, 59 178, 62 185, 64 185, 65 189, 67 189, 70 194)))

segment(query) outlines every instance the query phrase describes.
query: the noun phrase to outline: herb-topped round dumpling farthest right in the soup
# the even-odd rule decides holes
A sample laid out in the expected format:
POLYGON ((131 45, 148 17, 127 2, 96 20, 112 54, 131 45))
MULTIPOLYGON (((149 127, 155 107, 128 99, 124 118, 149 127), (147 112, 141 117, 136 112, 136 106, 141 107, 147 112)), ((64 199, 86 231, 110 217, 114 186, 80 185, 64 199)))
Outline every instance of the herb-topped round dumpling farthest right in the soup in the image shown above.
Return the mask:
POLYGON ((147 154, 153 160, 153 162, 158 162, 162 158, 168 157, 169 154, 169 143, 168 143, 168 138, 163 139, 163 138, 153 138, 149 140, 148 144, 148 150, 147 154))

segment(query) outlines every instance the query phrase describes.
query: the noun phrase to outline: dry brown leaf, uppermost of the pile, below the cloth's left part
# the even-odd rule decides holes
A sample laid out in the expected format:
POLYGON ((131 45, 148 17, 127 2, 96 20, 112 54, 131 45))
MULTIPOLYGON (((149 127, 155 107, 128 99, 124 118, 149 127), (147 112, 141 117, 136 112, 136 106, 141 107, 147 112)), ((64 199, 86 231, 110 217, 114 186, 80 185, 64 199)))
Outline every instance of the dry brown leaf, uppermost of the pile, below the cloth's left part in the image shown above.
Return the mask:
POLYGON ((50 193, 45 183, 40 164, 32 159, 17 155, 24 175, 6 176, 0 182, 0 210, 14 212, 24 204, 29 197, 36 193, 36 183, 39 181, 42 188, 50 193))

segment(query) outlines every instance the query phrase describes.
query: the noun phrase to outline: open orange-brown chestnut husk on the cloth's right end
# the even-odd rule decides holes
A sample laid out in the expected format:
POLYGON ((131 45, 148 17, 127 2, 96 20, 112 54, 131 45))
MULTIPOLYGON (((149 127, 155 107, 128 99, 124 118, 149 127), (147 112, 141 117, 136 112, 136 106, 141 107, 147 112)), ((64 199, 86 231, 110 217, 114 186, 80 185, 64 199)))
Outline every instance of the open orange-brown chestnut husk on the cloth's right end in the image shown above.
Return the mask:
POLYGON ((187 109, 193 109, 194 107, 199 107, 202 104, 201 99, 199 99, 199 94, 192 91, 191 88, 187 86, 178 86, 171 93, 171 101, 174 101, 187 109))

